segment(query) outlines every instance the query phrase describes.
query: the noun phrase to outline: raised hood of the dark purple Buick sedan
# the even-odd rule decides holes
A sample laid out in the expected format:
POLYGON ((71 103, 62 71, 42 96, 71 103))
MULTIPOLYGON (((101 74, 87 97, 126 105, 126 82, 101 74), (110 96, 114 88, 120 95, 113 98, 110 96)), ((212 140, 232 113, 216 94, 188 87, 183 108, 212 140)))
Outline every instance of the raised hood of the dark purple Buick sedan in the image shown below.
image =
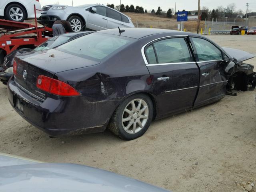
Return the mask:
POLYGON ((228 47, 222 47, 222 49, 232 58, 235 58, 238 62, 243 62, 245 60, 254 58, 255 55, 248 53, 246 51, 234 49, 234 48, 228 48, 228 47))

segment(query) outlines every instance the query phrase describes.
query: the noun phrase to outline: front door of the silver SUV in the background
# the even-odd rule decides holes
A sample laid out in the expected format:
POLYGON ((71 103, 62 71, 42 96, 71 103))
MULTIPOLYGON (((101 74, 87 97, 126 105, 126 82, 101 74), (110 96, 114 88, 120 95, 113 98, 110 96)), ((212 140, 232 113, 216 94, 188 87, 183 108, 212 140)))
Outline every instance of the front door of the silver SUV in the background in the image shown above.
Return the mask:
POLYGON ((86 27, 92 30, 104 30, 107 28, 107 8, 104 6, 93 6, 97 9, 96 13, 92 12, 90 8, 88 16, 88 24, 86 27))

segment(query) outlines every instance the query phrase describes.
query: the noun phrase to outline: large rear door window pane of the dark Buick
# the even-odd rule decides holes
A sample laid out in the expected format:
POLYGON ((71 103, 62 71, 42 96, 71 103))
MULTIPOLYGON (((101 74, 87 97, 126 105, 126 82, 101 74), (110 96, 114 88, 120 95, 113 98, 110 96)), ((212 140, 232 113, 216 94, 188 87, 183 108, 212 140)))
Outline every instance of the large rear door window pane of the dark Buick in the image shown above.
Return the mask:
POLYGON ((170 38, 154 43, 158 63, 191 62, 188 45, 184 38, 170 38))

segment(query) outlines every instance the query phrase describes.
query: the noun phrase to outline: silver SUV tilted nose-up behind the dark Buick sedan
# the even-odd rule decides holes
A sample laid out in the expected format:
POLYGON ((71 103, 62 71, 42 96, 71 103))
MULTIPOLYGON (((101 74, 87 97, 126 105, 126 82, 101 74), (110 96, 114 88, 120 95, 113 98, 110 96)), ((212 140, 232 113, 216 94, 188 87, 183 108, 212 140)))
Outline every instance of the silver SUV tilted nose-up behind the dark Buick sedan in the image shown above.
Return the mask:
POLYGON ((47 5, 42 7, 42 20, 67 20, 73 31, 84 29, 103 30, 110 28, 134 27, 132 20, 104 5, 86 4, 81 6, 47 5))

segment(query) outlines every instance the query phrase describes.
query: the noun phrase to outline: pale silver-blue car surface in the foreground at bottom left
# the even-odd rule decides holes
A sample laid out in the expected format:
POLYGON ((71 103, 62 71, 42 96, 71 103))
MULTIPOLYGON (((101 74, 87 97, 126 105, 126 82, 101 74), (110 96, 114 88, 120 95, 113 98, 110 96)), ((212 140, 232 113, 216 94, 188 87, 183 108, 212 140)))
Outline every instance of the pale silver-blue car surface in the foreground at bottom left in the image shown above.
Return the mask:
POLYGON ((106 170, 72 163, 43 163, 0 154, 0 191, 168 192, 106 170))

